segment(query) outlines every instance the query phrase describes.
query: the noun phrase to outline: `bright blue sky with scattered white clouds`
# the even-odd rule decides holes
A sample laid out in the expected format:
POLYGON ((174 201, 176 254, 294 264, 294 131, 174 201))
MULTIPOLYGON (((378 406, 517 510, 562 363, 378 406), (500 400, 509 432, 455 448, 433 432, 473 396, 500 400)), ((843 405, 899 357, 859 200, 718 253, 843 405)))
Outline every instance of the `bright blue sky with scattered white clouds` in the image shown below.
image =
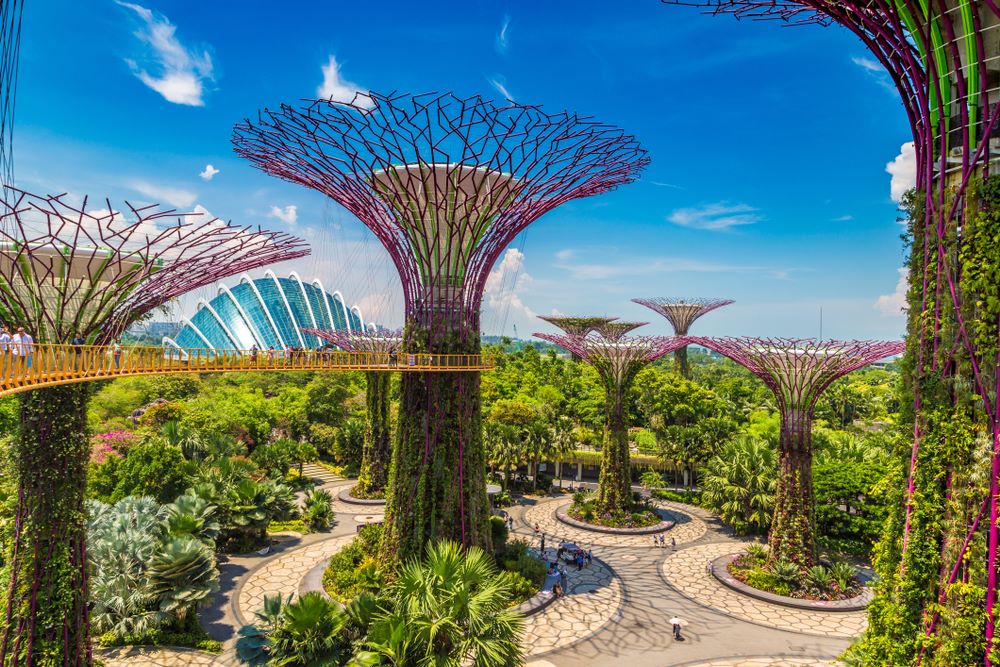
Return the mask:
POLYGON ((636 135, 652 158, 640 182, 544 216, 504 257, 487 333, 547 330, 533 314, 553 312, 643 318, 665 333, 629 302, 660 295, 736 300, 697 334, 816 336, 821 308, 826 337, 902 333, 886 167, 896 161, 905 186, 909 130, 840 28, 657 0, 26 4, 22 187, 202 207, 303 235, 314 256, 276 270, 320 277, 367 319, 398 324, 393 270, 360 222, 232 153, 233 124, 259 108, 321 90, 453 90, 636 135))

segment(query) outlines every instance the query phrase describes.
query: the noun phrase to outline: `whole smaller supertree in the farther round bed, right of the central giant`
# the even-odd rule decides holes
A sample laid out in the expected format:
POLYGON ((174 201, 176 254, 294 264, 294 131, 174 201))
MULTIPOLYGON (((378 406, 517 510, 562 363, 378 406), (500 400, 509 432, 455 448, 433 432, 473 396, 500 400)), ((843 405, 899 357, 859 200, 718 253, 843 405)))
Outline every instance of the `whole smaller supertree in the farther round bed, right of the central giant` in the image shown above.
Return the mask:
MULTIPOLYGON (((625 323, 626 326, 638 323, 625 323)), ((634 326, 631 328, 635 328, 634 326)), ((604 446, 597 502, 602 512, 622 513, 632 505, 628 415, 625 398, 635 376, 647 364, 685 344, 664 336, 572 336, 536 333, 536 338, 565 348, 594 367, 604 385, 604 446)))

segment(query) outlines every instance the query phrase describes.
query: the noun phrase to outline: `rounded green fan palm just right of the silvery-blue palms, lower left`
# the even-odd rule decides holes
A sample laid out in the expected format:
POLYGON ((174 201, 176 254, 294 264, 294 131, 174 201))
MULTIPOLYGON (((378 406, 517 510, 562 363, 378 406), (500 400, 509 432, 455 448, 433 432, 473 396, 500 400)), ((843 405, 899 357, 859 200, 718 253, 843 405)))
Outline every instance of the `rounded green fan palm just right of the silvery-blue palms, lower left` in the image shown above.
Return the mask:
POLYGON ((160 610, 180 622, 219 590, 215 554, 191 537, 167 541, 149 562, 146 575, 160 610))

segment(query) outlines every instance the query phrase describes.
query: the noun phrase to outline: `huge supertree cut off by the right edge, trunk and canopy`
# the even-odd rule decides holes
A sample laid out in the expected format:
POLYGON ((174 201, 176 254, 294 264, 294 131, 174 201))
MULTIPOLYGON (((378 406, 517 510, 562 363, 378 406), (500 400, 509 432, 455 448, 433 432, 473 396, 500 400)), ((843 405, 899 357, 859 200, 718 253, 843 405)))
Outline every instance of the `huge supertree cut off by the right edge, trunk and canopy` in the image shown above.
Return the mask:
POLYGON ((899 92, 916 158, 916 187, 903 206, 903 364, 913 410, 902 479, 891 485, 902 489, 899 509, 876 550, 877 595, 857 650, 873 665, 1000 664, 1000 177, 990 174, 1000 136, 1000 4, 664 1, 737 18, 838 24, 899 92))

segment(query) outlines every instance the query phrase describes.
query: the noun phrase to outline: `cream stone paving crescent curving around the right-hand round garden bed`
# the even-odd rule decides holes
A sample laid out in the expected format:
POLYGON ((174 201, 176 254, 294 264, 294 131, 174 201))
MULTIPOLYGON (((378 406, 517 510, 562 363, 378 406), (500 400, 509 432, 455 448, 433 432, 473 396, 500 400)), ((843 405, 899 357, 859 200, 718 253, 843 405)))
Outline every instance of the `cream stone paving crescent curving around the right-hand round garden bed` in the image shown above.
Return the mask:
POLYGON ((856 637, 867 626, 865 612, 823 612, 764 602, 726 588, 708 572, 707 564, 739 548, 715 542, 682 549, 662 565, 664 579, 700 604, 758 625, 822 637, 856 637))

